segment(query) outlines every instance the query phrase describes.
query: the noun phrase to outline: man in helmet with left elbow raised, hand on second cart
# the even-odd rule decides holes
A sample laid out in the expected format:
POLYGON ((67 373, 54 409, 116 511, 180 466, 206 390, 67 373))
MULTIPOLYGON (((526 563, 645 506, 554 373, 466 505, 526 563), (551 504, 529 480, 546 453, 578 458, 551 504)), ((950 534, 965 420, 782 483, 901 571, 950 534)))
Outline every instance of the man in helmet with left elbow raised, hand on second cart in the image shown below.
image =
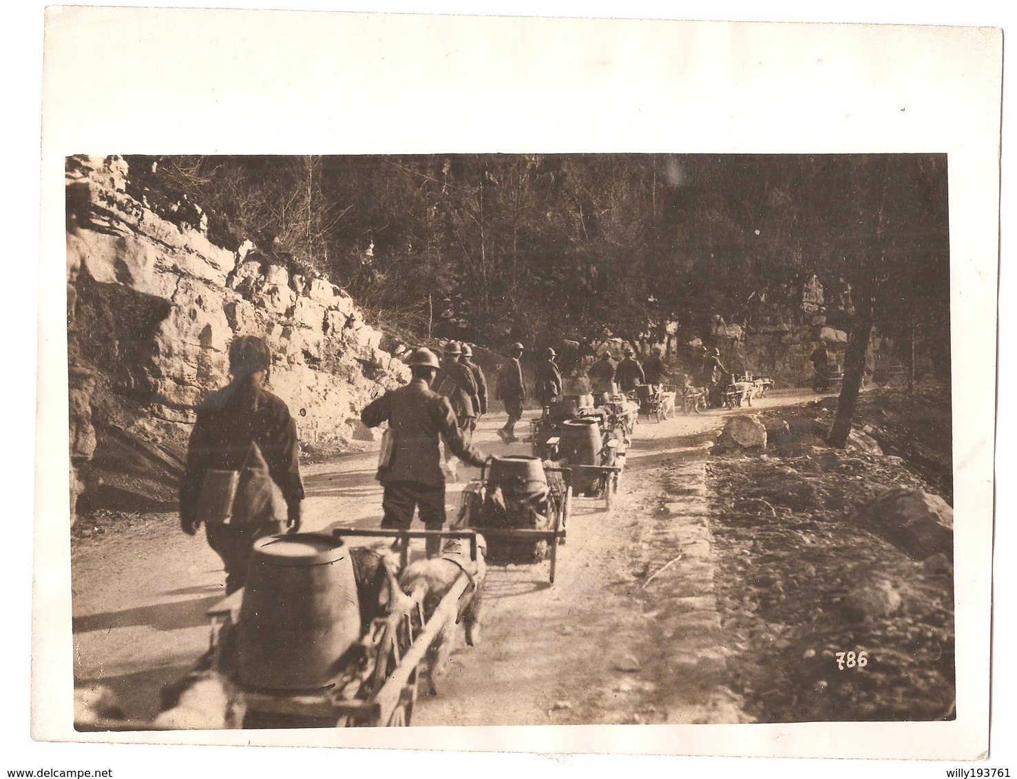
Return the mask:
MULTIPOLYGON (((387 422, 395 435, 388 462, 378 465, 377 479, 384 487, 381 527, 409 530, 413 513, 419 507, 424 527, 441 530, 445 522, 445 479, 439 440, 470 465, 481 467, 485 458, 463 440, 448 398, 431 389, 439 369, 434 353, 417 349, 408 364, 410 383, 371 401, 360 414, 368 427, 387 422)), ((428 557, 435 556, 439 548, 439 539, 427 539, 428 557)))

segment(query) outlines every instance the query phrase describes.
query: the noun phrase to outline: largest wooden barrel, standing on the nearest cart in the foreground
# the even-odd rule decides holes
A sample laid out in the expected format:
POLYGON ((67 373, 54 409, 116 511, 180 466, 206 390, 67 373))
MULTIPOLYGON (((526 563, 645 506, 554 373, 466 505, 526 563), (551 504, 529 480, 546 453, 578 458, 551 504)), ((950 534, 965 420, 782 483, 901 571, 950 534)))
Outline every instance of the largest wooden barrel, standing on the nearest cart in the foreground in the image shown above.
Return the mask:
POLYGON ((360 638, 348 547, 315 533, 254 543, 240 606, 237 680, 266 690, 315 690, 360 638))

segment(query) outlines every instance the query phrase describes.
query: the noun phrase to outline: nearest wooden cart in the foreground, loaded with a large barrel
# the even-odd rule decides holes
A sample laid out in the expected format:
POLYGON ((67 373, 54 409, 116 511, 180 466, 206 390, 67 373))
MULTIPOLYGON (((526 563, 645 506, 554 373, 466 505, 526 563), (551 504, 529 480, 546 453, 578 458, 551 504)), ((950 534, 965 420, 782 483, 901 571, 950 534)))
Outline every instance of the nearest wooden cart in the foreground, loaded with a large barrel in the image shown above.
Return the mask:
POLYGON ((410 724, 418 666, 458 619, 473 581, 463 572, 427 619, 423 604, 409 596, 372 615, 365 603, 376 602, 372 584, 385 574, 357 574, 344 539, 401 539, 405 567, 409 539, 435 535, 469 540, 477 559, 476 533, 462 530, 344 529, 255 543, 247 587, 207 612, 212 637, 202 663, 239 690, 244 727, 410 724))

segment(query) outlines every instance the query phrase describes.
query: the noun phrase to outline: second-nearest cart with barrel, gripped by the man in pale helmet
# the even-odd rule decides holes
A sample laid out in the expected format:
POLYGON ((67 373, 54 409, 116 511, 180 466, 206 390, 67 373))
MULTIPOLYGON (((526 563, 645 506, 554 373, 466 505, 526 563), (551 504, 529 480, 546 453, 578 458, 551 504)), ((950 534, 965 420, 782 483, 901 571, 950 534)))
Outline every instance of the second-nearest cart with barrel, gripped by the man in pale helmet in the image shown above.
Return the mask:
POLYGON ((463 489, 457 525, 484 536, 488 560, 549 560, 554 584, 571 501, 566 471, 545 468, 536 457, 495 456, 463 489))

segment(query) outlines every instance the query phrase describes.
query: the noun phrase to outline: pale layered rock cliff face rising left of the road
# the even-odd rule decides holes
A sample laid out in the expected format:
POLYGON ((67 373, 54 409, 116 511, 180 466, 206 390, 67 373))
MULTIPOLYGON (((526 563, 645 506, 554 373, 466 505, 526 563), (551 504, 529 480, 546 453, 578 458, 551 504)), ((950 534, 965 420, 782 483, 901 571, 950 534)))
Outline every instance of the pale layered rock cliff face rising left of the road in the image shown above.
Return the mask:
MULTIPOLYGON (((119 157, 67 160, 72 484, 93 506, 172 504, 193 407, 238 335, 266 340, 270 388, 307 447, 369 438, 360 410, 409 371, 343 290, 244 241, 208 240, 128 194, 119 157)), ((200 209, 188 203, 190 211, 200 209)), ((72 499, 76 497, 72 488, 72 499)))

